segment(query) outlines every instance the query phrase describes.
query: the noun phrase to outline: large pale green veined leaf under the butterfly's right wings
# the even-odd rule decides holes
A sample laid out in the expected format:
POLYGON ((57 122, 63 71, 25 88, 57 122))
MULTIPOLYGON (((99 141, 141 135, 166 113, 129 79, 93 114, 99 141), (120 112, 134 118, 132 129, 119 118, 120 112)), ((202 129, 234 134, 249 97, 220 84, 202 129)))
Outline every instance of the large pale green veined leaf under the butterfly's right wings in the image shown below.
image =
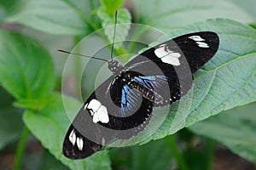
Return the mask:
POLYGON ((256 31, 250 26, 232 20, 207 20, 193 26, 172 31, 177 37, 195 31, 215 31, 220 38, 218 53, 195 74, 193 90, 168 106, 154 108, 152 122, 127 144, 145 144, 151 139, 161 139, 183 127, 217 115, 221 111, 256 100, 256 31), (178 109, 178 110, 177 110, 178 109), (165 121, 151 136, 154 122, 168 111, 165 121))

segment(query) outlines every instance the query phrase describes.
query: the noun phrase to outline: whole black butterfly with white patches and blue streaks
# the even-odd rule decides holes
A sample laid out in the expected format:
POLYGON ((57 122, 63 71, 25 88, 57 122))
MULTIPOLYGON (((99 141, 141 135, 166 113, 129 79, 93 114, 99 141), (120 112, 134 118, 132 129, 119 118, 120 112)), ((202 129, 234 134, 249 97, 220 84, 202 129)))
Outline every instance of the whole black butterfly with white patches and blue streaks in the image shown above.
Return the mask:
POLYGON ((113 76, 75 117, 64 140, 64 156, 81 159, 113 139, 129 139, 142 131, 154 107, 170 105, 189 91, 193 73, 212 59, 218 44, 216 33, 201 31, 160 43, 124 66, 109 61, 113 76))

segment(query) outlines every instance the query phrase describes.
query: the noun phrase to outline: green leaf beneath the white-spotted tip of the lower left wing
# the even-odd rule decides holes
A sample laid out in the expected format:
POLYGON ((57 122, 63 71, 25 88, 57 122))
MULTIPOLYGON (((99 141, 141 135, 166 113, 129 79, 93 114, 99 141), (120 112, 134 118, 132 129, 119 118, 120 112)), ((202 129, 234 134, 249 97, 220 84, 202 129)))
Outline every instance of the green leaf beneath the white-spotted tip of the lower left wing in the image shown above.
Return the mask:
MULTIPOLYGON (((79 108, 82 105, 72 98, 67 98, 66 101, 68 102, 65 108, 69 111, 73 110, 73 114, 78 112, 73 108, 79 108)), ((93 156, 79 161, 69 160, 61 154, 62 143, 67 133, 67 128, 71 124, 67 118, 65 108, 61 94, 53 94, 40 115, 32 111, 26 111, 23 120, 43 146, 56 159, 71 169, 110 169, 110 160, 106 150, 99 151, 93 156)))

